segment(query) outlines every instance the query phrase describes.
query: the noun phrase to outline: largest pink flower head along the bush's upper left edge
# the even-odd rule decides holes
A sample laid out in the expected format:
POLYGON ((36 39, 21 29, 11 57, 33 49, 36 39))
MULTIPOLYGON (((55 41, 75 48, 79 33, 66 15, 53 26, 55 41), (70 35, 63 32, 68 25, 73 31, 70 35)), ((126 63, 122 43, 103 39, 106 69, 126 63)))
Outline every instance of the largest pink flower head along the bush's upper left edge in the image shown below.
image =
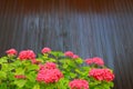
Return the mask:
POLYGON ((19 53, 20 60, 32 60, 35 59, 35 53, 32 50, 23 50, 19 53))

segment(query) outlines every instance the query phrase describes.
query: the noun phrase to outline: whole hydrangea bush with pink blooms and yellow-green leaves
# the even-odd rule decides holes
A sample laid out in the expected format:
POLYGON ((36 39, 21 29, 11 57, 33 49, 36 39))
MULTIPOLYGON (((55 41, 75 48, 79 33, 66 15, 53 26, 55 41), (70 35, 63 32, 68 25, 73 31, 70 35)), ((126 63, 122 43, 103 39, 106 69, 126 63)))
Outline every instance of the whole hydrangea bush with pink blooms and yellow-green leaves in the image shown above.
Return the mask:
POLYGON ((81 59, 72 51, 43 48, 6 51, 0 58, 0 89, 111 89, 113 71, 99 58, 81 59))

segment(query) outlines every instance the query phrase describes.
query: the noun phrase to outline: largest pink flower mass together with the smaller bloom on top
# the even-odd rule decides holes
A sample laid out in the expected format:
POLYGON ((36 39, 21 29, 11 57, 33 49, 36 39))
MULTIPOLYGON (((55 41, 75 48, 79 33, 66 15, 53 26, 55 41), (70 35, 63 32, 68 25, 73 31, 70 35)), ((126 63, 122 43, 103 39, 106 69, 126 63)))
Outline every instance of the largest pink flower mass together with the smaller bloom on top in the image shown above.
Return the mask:
POLYGON ((63 77, 62 72, 52 62, 48 62, 44 66, 40 66, 39 73, 37 76, 38 81, 45 83, 58 82, 63 77))

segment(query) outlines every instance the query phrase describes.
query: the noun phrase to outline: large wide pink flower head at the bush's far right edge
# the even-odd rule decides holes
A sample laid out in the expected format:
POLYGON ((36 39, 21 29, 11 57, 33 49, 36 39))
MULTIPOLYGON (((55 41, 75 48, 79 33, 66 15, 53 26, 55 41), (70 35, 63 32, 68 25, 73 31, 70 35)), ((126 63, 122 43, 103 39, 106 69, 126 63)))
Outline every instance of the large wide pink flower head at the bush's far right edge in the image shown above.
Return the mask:
POLYGON ((110 69, 91 69, 89 76, 96 80, 112 81, 114 79, 110 69))

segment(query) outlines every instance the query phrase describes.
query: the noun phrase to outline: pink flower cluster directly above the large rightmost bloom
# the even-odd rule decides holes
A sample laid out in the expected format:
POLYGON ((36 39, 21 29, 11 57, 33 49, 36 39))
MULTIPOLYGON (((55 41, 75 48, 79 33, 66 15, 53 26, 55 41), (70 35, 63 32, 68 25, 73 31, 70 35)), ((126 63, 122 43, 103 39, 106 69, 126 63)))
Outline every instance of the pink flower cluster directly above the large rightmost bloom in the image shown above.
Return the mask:
POLYGON ((86 59, 85 62, 88 65, 94 63, 94 65, 98 65, 98 66, 104 66, 104 61, 101 58, 99 58, 99 57, 86 59))

